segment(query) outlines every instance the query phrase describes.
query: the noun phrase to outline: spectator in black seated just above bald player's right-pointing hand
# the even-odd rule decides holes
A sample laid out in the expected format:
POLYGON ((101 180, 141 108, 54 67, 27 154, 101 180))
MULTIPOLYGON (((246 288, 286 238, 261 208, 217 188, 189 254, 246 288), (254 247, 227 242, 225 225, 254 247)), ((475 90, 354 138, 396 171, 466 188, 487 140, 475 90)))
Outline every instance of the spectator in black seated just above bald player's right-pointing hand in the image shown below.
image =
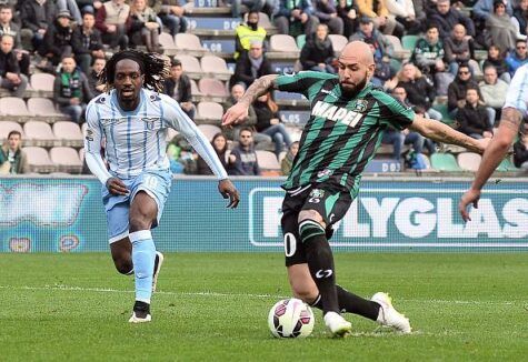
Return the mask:
POLYGON ((466 104, 457 112, 458 131, 474 139, 491 138, 492 128, 487 121, 486 108, 479 104, 479 91, 476 88, 466 90, 466 104))

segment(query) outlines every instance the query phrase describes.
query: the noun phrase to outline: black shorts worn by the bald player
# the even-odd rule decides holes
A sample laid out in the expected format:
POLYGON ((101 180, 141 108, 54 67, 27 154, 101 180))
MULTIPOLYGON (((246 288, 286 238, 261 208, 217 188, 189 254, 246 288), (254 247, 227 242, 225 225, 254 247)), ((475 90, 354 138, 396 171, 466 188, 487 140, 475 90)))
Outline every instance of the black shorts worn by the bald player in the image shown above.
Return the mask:
POLYGON ((305 245, 299 237, 299 212, 315 210, 327 224, 326 233, 330 239, 332 224, 341 220, 356 197, 357 190, 347 191, 325 183, 309 184, 287 190, 282 202, 282 234, 285 241, 286 267, 306 263, 305 245))

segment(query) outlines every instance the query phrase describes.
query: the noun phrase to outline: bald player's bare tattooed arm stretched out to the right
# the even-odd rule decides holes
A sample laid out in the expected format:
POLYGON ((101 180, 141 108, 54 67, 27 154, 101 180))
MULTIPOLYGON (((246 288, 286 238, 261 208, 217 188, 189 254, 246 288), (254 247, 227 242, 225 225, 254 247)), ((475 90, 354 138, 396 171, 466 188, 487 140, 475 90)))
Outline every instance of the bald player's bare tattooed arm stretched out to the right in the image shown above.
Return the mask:
POLYGON ((437 142, 456 144, 467 148, 470 151, 477 153, 484 153, 489 140, 476 140, 460 133, 442 122, 428 120, 421 115, 416 115, 412 124, 409 127, 410 130, 420 133, 428 139, 431 139, 437 142))

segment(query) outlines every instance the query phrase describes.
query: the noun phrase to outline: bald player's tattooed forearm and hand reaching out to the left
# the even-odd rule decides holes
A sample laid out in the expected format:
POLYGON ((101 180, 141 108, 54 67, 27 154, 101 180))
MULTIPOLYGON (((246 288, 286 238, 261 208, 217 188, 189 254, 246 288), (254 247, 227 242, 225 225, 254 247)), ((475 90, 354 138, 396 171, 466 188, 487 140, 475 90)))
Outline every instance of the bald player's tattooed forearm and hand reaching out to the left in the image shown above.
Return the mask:
POLYGON ((275 88, 277 74, 262 76, 257 79, 243 93, 237 104, 229 108, 222 117, 222 125, 232 125, 248 117, 249 105, 269 89, 275 88))

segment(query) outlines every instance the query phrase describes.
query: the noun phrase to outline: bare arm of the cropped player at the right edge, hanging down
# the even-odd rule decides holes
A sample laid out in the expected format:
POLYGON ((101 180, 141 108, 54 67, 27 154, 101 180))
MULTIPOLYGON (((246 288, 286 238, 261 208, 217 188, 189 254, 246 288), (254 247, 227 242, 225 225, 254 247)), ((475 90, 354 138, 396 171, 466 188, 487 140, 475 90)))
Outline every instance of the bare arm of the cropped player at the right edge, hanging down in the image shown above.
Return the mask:
POLYGON ((464 221, 471 220, 469 218, 468 207, 470 204, 472 204, 474 208, 478 207, 480 190, 482 190, 486 181, 488 181, 500 164, 500 161, 502 161, 508 153, 517 132, 519 132, 522 114, 519 110, 515 108, 502 109, 499 129, 491 142, 489 142, 486 152, 484 152, 482 161, 477 170, 471 188, 461 197, 460 203, 458 204, 458 211, 464 221))

